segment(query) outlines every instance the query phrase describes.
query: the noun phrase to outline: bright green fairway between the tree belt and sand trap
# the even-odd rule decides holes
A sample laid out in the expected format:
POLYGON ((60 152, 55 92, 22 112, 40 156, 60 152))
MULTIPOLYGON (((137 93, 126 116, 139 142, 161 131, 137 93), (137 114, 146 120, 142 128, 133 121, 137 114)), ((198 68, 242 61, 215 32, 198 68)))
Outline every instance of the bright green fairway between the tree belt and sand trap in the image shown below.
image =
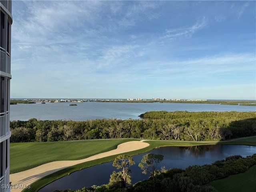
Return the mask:
POLYGON ((31 142, 10 144, 10 173, 24 171, 48 162, 78 160, 116 149, 133 139, 31 142))

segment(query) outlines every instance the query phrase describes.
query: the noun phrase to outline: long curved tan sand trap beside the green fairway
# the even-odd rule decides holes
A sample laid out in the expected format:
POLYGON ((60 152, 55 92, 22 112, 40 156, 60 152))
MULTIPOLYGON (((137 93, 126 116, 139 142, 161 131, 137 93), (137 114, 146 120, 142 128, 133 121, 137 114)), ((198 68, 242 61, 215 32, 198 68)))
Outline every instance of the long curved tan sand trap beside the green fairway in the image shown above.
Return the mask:
POLYGON ((96 154, 94 156, 90 156, 85 159, 70 160, 70 161, 54 161, 54 162, 50 162, 50 163, 46 163, 46 164, 37 166, 35 168, 29 169, 26 171, 10 174, 10 182, 12 182, 12 185, 14 185, 14 187, 12 188, 11 191, 12 192, 21 192, 23 189, 17 188, 16 187, 17 185, 28 186, 28 184, 32 184, 33 182, 39 180, 40 178, 42 178, 44 176, 47 176, 47 175, 52 174, 58 170, 61 170, 61 169, 64 169, 64 168, 67 168, 67 167, 70 167, 70 166, 73 166, 76 164, 80 164, 83 162, 96 160, 96 159, 100 159, 100 158, 104 158, 107 156, 112 156, 112 155, 116 155, 116 154, 120 154, 120 153, 139 150, 139 149, 145 148, 147 146, 149 146, 148 143, 144 143, 141 141, 129 141, 129 142, 119 144, 117 146, 117 148, 114 150, 96 154))

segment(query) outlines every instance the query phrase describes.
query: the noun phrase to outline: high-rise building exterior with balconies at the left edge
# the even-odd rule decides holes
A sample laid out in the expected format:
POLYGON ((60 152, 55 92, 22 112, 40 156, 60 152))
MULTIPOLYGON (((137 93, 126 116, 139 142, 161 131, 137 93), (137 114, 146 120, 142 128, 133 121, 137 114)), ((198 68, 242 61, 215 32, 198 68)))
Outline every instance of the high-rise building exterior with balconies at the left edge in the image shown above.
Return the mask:
POLYGON ((0 0, 0 192, 10 192, 10 79, 12 1, 0 0))

